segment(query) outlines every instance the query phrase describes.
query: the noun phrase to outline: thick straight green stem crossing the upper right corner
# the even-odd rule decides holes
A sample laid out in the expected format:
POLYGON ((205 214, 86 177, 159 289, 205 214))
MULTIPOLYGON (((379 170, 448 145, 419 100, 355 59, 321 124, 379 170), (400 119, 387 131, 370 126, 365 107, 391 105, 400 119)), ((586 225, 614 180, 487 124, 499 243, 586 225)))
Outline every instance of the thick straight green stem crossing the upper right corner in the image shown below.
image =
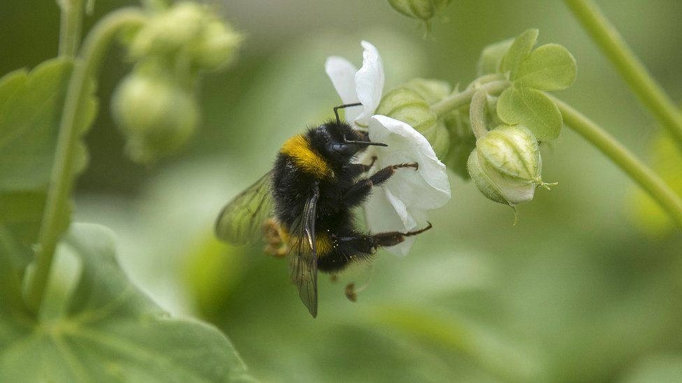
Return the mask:
POLYGON ((623 37, 592 0, 565 0, 632 91, 682 147, 682 112, 637 59, 623 37))

